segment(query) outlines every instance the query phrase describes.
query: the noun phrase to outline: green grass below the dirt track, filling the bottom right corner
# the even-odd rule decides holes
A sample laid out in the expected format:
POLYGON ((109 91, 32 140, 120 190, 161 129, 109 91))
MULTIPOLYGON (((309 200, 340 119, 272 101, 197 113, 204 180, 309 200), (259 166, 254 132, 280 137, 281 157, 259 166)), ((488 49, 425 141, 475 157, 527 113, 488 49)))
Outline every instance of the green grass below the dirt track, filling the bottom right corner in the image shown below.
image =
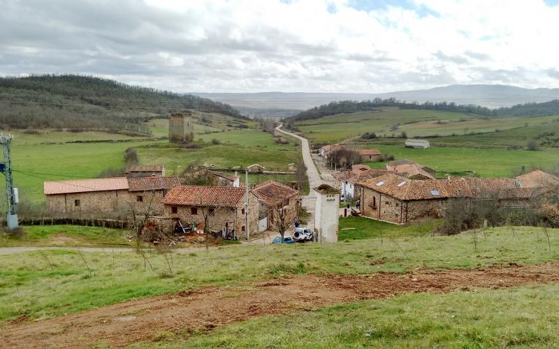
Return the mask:
POLYGON ((256 318, 157 347, 556 348, 558 312, 557 284, 416 293, 256 318))

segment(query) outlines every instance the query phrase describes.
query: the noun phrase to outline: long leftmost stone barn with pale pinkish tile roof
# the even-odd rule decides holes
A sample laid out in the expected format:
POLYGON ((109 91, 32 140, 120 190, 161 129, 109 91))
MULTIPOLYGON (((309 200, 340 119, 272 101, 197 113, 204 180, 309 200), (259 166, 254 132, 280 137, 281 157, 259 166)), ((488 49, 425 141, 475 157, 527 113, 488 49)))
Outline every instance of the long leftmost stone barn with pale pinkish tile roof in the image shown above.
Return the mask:
MULTIPOLYGON (((49 211, 59 214, 91 215, 103 212, 111 216, 128 208, 126 177, 45 181, 43 189, 49 211)), ((99 216, 99 215, 98 215, 99 216)))

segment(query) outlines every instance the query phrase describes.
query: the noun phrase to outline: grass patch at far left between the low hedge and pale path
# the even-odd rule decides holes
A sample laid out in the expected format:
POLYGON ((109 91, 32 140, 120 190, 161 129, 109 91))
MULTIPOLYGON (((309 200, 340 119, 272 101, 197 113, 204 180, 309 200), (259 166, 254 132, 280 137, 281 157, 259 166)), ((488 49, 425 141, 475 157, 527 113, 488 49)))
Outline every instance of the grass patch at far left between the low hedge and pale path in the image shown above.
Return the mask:
POLYGON ((22 226, 17 236, 0 234, 0 247, 7 246, 80 246, 122 247, 135 246, 122 229, 84 227, 80 225, 22 226))

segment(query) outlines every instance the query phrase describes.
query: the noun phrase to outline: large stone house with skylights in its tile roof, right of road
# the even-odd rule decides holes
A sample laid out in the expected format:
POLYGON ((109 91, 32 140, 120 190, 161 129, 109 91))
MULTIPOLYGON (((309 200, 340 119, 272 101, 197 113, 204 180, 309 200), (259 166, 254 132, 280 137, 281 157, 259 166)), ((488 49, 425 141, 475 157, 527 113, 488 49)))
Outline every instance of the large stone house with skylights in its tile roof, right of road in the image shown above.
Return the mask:
POLYGON ((361 214, 392 223, 440 217, 449 198, 471 198, 462 179, 413 180, 397 174, 368 179, 359 184, 361 214))

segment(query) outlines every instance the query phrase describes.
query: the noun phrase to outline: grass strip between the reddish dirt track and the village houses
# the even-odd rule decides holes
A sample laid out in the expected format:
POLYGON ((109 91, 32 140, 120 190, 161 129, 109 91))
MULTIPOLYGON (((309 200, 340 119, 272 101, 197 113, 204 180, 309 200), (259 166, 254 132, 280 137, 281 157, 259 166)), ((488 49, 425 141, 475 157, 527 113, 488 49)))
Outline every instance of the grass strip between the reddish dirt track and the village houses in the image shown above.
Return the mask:
MULTIPOLYGON (((350 218, 346 218, 350 219, 350 218)), ((357 227, 354 238, 372 236, 369 228, 342 218, 342 227, 357 227)), ((354 239, 337 244, 228 246, 196 253, 173 253, 169 269, 164 255, 43 251, 0 258, 0 321, 50 318, 128 299, 193 290, 204 285, 246 285, 290 274, 404 273, 416 268, 449 269, 533 264, 559 258, 559 230, 548 231, 551 249, 539 228, 491 228, 477 235, 433 237, 426 232, 354 239), (383 260, 384 264, 375 261, 383 260), (88 268, 92 270, 89 275, 88 268)))

